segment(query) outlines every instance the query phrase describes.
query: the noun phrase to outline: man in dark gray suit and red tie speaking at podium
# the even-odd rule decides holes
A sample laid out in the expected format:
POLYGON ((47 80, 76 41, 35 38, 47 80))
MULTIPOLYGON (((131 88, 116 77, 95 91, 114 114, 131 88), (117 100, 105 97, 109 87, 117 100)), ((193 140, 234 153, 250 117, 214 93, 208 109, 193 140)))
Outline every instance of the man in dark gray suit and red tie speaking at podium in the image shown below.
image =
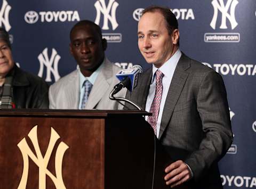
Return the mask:
POLYGON ((218 161, 233 134, 221 76, 179 50, 178 21, 170 9, 143 11, 138 45, 153 67, 126 97, 153 113, 146 120, 173 160, 163 168, 163 181, 170 187, 186 182, 191 188, 222 188, 218 161))

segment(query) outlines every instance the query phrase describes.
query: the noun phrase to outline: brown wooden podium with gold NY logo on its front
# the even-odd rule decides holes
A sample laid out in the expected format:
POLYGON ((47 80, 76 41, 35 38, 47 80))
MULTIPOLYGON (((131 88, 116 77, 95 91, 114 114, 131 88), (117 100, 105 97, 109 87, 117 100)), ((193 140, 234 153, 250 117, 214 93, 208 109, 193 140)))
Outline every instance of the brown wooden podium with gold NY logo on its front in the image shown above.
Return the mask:
POLYGON ((145 115, 0 110, 1 188, 168 188, 163 177, 171 158, 145 115))

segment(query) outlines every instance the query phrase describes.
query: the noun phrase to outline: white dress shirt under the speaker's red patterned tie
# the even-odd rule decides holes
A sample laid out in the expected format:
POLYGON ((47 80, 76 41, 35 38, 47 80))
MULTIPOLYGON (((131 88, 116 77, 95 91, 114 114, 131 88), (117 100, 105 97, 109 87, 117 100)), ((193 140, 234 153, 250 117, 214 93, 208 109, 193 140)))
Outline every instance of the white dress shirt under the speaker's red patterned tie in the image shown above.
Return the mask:
MULTIPOLYGON (((158 138, 159 130, 160 130, 160 126, 161 126, 161 120, 162 120, 162 114, 163 114, 163 110, 164 110, 165 100, 166 100, 166 97, 167 97, 167 94, 169 91, 169 87, 170 87, 170 84, 172 81, 174 70, 178 64, 180 56, 181 56, 181 51, 178 49, 174 53, 174 55, 159 68, 159 70, 162 71, 162 73, 164 74, 164 77, 162 80, 162 83, 163 83, 162 98, 161 98, 161 103, 160 103, 160 108, 159 108, 159 113, 158 113, 158 118, 157 118, 157 124, 156 124, 156 137, 157 138, 158 138)), ((156 70, 158 70, 158 68, 156 68, 155 65, 153 64, 153 70, 152 70, 153 75, 152 75, 152 80, 151 80, 151 84, 149 87, 149 93, 148 93, 147 102, 146 102, 146 111, 148 111, 148 112, 149 112, 151 104, 154 100, 155 91, 156 91, 156 79, 155 79, 156 70)), ((145 116, 145 119, 148 120, 148 116, 145 116)))

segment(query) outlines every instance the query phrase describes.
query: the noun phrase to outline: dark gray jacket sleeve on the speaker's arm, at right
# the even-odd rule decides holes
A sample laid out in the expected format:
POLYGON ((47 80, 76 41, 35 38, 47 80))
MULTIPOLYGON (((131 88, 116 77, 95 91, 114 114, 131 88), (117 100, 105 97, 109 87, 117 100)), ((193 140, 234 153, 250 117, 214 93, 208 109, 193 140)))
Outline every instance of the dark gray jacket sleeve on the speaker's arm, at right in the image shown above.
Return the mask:
POLYGON ((205 135, 186 163, 197 180, 226 154, 233 142, 226 88, 217 72, 205 73, 196 102, 205 135))

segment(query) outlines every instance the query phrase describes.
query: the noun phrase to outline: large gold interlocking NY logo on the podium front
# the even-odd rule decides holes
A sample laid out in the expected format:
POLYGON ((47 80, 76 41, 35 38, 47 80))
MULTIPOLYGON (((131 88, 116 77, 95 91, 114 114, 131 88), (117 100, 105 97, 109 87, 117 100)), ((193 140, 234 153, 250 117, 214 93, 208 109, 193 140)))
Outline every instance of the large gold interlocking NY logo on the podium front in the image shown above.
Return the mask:
POLYGON ((63 155, 68 149, 68 145, 61 142, 57 148, 56 154, 55 154, 55 172, 56 172, 56 177, 47 169, 47 165, 49 162, 49 159, 51 157, 53 147, 57 140, 60 138, 57 132, 53 128, 51 128, 51 137, 50 137, 50 142, 47 147, 46 153, 43 157, 41 150, 39 148, 38 144, 38 138, 37 138, 37 126, 33 127, 33 129, 30 130, 28 137, 30 138, 35 151, 36 155, 31 151, 30 147, 28 146, 28 143, 25 138, 23 138, 19 144, 18 147, 22 153, 23 157, 23 173, 22 177, 20 180, 20 184, 18 186, 18 189, 26 189, 27 185, 27 179, 28 179, 28 168, 29 168, 29 159, 28 157, 31 158, 35 162, 35 164, 39 168, 39 189, 45 189, 46 188, 46 175, 48 175, 55 187, 57 189, 65 189, 65 184, 63 183, 62 179, 62 160, 63 160, 63 155))

